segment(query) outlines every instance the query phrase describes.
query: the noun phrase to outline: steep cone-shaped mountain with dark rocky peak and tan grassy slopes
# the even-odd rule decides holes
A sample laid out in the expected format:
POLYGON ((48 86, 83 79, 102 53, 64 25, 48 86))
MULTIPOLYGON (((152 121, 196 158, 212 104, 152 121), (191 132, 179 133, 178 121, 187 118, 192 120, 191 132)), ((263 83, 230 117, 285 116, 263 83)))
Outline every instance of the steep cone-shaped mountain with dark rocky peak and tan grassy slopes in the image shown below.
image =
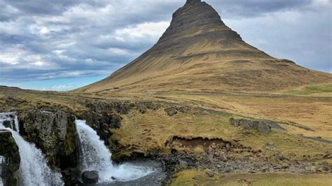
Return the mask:
POLYGON ((244 42, 200 0, 187 0, 152 48, 80 92, 275 92, 331 83, 332 74, 276 59, 244 42))

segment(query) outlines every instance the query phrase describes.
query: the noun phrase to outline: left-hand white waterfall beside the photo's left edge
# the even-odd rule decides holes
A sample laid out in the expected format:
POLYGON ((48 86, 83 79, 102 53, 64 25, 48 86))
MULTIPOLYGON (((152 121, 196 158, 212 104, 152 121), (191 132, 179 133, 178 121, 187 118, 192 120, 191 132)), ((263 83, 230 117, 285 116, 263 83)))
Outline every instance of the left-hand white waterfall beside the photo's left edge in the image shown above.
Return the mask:
POLYGON ((25 186, 46 186, 46 185, 64 185, 60 173, 52 171, 47 164, 43 152, 36 148, 33 143, 28 143, 18 133, 18 117, 14 119, 11 115, 15 113, 0 113, 0 129, 11 131, 11 134, 18 145, 20 152, 20 185, 25 186), (9 120, 14 122, 15 130, 6 128, 3 122, 9 120), (14 120, 14 121, 12 121, 14 120))

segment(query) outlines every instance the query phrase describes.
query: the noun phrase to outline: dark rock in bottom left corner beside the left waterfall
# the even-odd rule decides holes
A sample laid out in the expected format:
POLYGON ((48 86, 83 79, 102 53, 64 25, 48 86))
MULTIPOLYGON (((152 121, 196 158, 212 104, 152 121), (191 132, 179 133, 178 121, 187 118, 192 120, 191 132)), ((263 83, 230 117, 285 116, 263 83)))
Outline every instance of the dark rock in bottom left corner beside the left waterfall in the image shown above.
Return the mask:
POLYGON ((10 131, 0 130, 0 156, 4 157, 1 179, 5 186, 18 185, 18 170, 20 169, 20 152, 11 135, 10 131))

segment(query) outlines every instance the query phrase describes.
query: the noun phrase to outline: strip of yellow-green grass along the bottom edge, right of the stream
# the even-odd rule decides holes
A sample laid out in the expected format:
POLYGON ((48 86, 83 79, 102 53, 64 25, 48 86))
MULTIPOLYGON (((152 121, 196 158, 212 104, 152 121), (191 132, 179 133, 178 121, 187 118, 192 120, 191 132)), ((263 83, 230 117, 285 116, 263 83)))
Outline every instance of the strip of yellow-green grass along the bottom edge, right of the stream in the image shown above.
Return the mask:
POLYGON ((328 186, 331 185, 332 176, 323 174, 300 175, 296 173, 213 173, 209 177, 209 170, 191 169, 181 171, 175 175, 172 186, 181 185, 227 185, 227 186, 328 186))

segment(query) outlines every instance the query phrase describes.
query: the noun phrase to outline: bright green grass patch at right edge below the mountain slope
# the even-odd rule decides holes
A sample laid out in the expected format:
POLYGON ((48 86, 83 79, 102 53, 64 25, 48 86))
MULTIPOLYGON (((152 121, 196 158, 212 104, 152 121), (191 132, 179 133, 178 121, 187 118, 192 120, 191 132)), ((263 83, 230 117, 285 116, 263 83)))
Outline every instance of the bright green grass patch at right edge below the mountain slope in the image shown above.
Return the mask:
POLYGON ((311 85, 303 87, 301 90, 287 90, 284 93, 286 94, 295 94, 295 95, 310 95, 317 93, 329 93, 332 92, 332 85, 311 85))

